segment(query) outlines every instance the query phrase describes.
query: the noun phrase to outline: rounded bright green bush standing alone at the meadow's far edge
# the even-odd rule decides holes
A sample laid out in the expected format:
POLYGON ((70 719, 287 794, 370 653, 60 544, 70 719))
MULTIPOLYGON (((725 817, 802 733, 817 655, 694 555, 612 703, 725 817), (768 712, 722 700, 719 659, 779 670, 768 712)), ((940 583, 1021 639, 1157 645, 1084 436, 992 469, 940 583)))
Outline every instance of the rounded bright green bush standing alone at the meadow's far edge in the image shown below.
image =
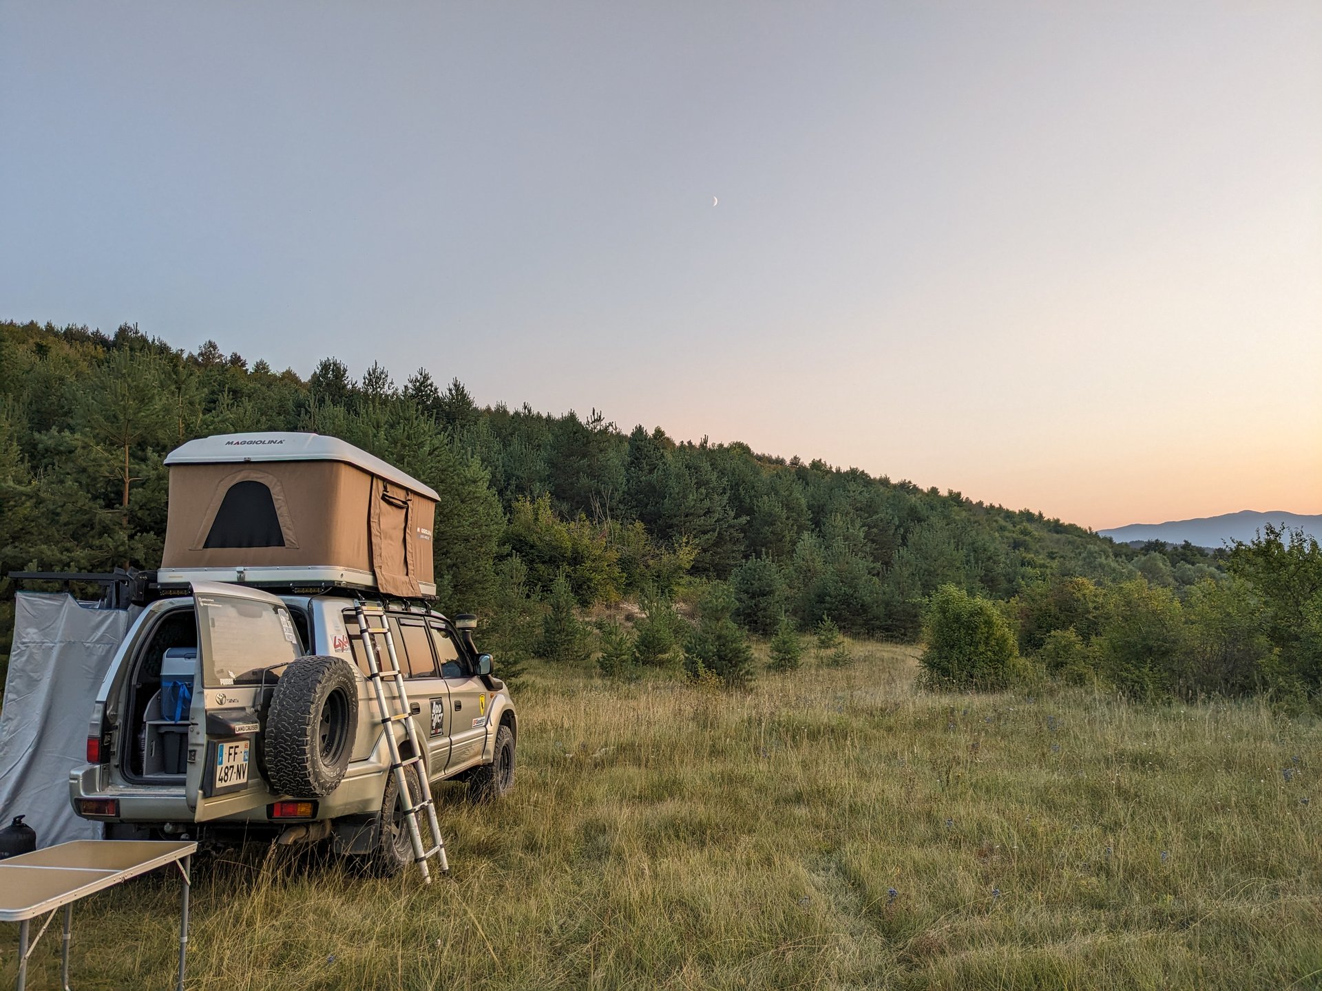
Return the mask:
POLYGON ((1022 674, 1010 624, 986 599, 956 585, 932 593, 923 618, 928 679, 951 687, 1002 688, 1022 674))

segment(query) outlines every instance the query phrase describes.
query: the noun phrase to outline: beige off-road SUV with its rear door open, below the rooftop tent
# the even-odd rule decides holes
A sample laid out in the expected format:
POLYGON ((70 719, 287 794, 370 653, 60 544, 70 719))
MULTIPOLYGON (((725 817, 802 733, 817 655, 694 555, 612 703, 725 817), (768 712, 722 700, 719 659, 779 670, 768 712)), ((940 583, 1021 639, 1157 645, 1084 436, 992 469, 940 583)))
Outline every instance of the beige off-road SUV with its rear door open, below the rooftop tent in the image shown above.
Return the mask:
MULTIPOLYGON (((97 695, 87 764, 70 777, 74 811, 108 838, 330 839, 395 873, 414 856, 386 727, 411 782, 460 780, 476 798, 513 785, 514 704, 473 647, 473 617, 336 588, 181 591, 131 626, 97 695), (360 601, 386 614, 422 754, 378 711, 362 637, 375 637, 382 669, 390 654, 383 634, 360 632, 360 601)), ((393 678, 382 687, 394 698, 393 678)))

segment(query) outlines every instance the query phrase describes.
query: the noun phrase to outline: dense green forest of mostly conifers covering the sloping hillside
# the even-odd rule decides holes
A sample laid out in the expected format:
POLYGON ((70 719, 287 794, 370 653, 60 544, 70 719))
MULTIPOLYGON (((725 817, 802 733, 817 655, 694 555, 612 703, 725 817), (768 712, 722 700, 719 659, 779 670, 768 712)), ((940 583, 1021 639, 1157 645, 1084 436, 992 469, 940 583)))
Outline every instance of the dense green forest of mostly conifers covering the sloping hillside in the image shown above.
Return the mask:
MULTIPOLYGON (((442 387, 424 369, 395 382, 379 365, 354 373, 325 358, 304 381, 212 341, 185 353, 131 325, 32 322, 0 322, 0 573, 156 567, 165 455, 192 437, 272 429, 342 437, 436 489, 440 605, 488 617, 510 663, 683 655, 701 671, 722 667, 722 650, 739 654, 744 630, 783 638, 824 620, 911 641, 937 589, 953 588, 998 604, 1026 657, 1059 654, 1072 630, 1081 653, 1058 666, 1075 670, 1091 663, 1097 624, 1043 617, 1091 595, 1081 588, 1149 589, 1182 609, 1210 589, 1248 588, 1228 575, 1227 551, 1116 544, 855 468, 623 431, 595 410, 479 406, 457 378, 442 387), (683 630, 664 629, 677 597, 727 647, 685 646, 683 630), (582 626, 584 610, 621 600, 642 604, 640 624, 582 626), (640 650, 646 637, 654 649, 640 650)), ((11 613, 0 621, 7 649, 11 613)), ((1282 659, 1297 643, 1266 633, 1263 643, 1302 671, 1282 659)))

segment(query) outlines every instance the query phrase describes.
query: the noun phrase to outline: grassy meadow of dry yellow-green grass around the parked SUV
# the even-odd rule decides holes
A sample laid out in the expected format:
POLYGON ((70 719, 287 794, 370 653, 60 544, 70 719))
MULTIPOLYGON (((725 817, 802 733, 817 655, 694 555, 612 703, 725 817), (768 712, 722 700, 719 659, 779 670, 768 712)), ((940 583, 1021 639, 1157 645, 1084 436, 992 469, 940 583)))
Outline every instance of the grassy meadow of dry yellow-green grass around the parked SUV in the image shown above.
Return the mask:
MULTIPOLYGON (((189 987, 1322 987, 1317 721, 855 653, 747 694, 534 671, 514 793, 443 790, 448 879, 213 859, 189 987)), ((169 986, 176 892, 82 902, 75 986, 169 986)))

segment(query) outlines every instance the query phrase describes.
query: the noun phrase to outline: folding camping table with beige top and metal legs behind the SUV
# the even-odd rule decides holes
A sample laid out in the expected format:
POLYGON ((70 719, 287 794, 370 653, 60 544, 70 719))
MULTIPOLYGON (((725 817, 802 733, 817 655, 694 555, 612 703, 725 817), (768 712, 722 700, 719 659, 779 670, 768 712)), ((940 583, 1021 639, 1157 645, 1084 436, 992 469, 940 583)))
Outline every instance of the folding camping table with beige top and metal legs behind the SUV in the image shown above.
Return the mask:
POLYGON ((59 957, 59 983, 69 988, 69 936, 74 902, 130 877, 175 864, 184 879, 178 924, 178 991, 184 988, 188 951, 189 865, 197 843, 159 840, 75 839, 32 854, 0 860, 0 922, 19 924, 19 991, 28 982, 28 957, 46 932, 56 909, 65 909, 65 938, 59 957), (37 939, 28 942, 28 922, 49 912, 37 939))

